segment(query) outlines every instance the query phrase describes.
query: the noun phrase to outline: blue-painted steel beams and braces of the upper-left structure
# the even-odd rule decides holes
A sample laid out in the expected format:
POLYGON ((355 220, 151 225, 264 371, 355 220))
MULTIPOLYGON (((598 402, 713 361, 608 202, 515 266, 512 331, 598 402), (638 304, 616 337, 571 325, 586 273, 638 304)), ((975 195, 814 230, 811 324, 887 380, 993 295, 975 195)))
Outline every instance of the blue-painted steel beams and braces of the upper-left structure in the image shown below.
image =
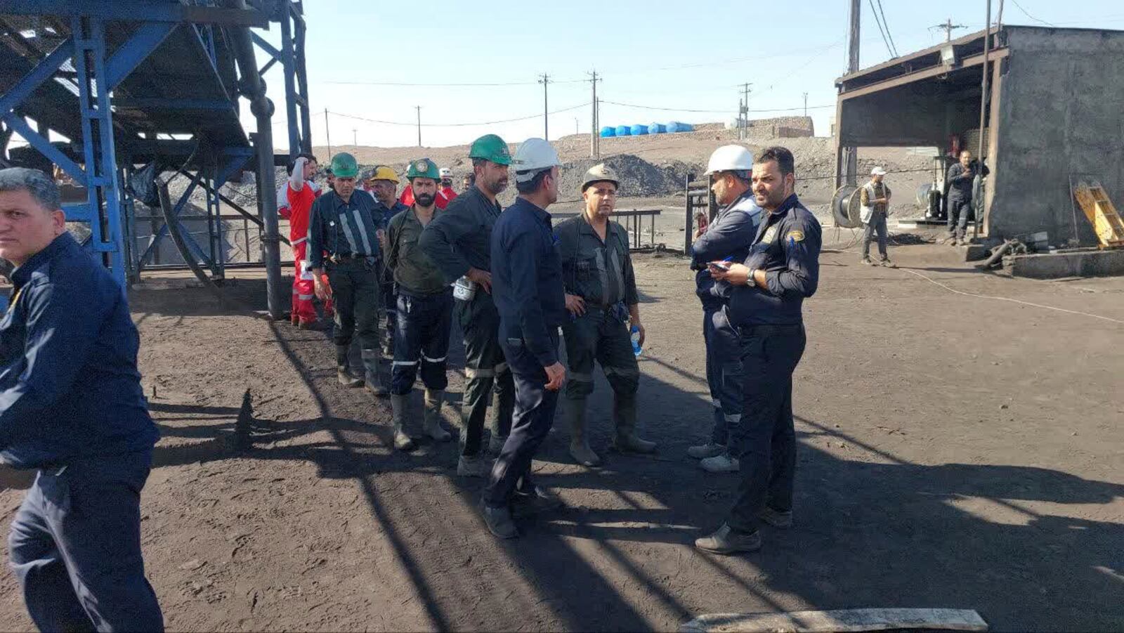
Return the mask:
MULTIPOLYGON (((242 25, 268 28, 270 21, 281 25, 281 45, 275 47, 257 34, 252 34, 257 46, 265 51, 269 62, 262 72, 280 63, 284 70, 287 92, 285 111, 289 124, 289 153, 311 151, 310 112, 308 110, 308 81, 305 70, 303 45, 306 25, 301 17, 300 0, 275 0, 277 15, 266 16, 259 9, 241 10, 202 2, 181 4, 152 0, 3 0, 0 12, 55 16, 69 19, 72 36, 60 44, 43 60, 34 63, 29 72, 11 89, 0 93, 0 141, 18 134, 49 161, 70 174, 89 191, 85 202, 64 206, 69 221, 84 221, 90 226, 85 246, 99 255, 120 283, 138 278, 152 261, 161 242, 167 236, 167 226, 161 226, 144 248, 136 244, 135 201, 125 183, 133 173, 133 161, 126 155, 118 164, 115 139, 114 107, 158 108, 162 110, 238 110, 239 92, 236 87, 225 87, 228 99, 164 99, 134 96, 114 99, 111 92, 139 64, 144 62, 175 28, 190 28, 199 38, 207 58, 218 74, 217 34, 215 25, 242 25), (106 22, 128 20, 138 26, 116 51, 107 51, 106 22), (33 128, 25 117, 35 112, 21 106, 45 82, 61 72, 71 61, 78 84, 79 118, 82 138, 81 163, 49 142, 49 132, 39 121, 33 128), (112 107, 111 107, 112 106, 112 107)), ((156 139, 155 137, 148 137, 156 139)), ((136 138, 129 138, 132 142, 136 138)), ((126 150, 130 151, 130 150, 126 150)), ((145 150, 137 151, 144 152, 145 150)), ((0 143, 0 159, 6 156, 7 143, 0 143)), ((175 201, 172 214, 179 223, 180 212, 188 205, 200 182, 206 183, 206 221, 208 241, 201 245, 187 230, 181 234, 191 254, 207 265, 216 277, 224 273, 226 263, 221 199, 219 187, 246 166, 256 155, 253 147, 207 147, 192 175, 192 183, 175 201)), ((140 154, 145 155, 145 154, 140 154)), ((152 154, 147 154, 152 155, 152 154)), ((158 154, 157 154, 158 155, 158 154)), ((147 159, 146 159, 147 160, 147 159)), ((172 164, 169 157, 157 164, 172 164)), ((203 218, 199 218, 203 219, 203 218)))

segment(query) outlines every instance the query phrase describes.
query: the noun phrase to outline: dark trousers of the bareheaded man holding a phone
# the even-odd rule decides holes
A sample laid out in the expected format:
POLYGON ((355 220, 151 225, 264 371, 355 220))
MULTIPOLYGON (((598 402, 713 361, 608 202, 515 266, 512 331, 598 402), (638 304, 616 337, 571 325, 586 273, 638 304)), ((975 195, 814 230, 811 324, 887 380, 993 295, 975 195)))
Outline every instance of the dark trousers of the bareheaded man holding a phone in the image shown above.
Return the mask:
POLYGON ((781 512, 792 509, 792 371, 806 341, 799 324, 746 326, 741 334, 745 405, 741 423, 731 426, 741 479, 726 523, 740 532, 754 532, 765 504, 781 512))

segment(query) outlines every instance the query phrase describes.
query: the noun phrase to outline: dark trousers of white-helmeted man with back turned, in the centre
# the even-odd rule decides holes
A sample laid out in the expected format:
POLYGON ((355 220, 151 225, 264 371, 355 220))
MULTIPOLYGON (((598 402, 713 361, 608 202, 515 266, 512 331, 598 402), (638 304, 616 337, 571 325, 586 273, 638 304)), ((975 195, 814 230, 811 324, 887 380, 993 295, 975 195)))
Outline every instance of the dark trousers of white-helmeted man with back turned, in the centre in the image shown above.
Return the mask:
MULTIPOLYGON (((558 329, 550 329, 556 350, 558 329)), ((492 508, 507 505, 520 479, 524 489, 532 486, 531 461, 554 425, 554 410, 559 404, 559 392, 546 389, 546 371, 527 351, 523 340, 504 338, 500 344, 515 378, 515 414, 511 417, 511 434, 496 458, 491 479, 484 489, 484 504, 492 508)))

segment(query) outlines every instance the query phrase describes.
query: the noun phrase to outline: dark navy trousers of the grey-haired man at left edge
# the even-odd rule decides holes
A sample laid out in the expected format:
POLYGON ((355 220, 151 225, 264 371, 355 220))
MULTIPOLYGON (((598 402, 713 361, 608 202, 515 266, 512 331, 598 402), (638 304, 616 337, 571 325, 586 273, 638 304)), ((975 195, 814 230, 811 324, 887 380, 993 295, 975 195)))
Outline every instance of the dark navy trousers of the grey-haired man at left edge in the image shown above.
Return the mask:
POLYGON ((147 452, 39 471, 8 552, 40 631, 163 631, 140 555, 147 452))

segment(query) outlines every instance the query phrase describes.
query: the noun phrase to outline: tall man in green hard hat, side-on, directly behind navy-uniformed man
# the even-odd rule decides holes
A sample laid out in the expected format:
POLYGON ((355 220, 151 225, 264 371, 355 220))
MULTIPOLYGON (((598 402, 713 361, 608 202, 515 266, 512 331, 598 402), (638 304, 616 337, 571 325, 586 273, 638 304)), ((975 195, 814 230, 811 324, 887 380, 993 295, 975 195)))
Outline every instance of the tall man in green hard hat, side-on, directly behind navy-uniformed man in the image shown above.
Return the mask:
POLYGON ((422 232, 418 244, 453 283, 454 313, 464 333, 462 400, 463 431, 456 473, 486 477, 483 428, 491 390, 497 406, 492 413, 489 449, 499 453, 511 431, 515 383, 499 346, 499 313, 491 297, 491 230, 502 210, 496 196, 507 189, 511 153, 495 134, 477 138, 469 148, 475 183, 457 196, 422 232))

